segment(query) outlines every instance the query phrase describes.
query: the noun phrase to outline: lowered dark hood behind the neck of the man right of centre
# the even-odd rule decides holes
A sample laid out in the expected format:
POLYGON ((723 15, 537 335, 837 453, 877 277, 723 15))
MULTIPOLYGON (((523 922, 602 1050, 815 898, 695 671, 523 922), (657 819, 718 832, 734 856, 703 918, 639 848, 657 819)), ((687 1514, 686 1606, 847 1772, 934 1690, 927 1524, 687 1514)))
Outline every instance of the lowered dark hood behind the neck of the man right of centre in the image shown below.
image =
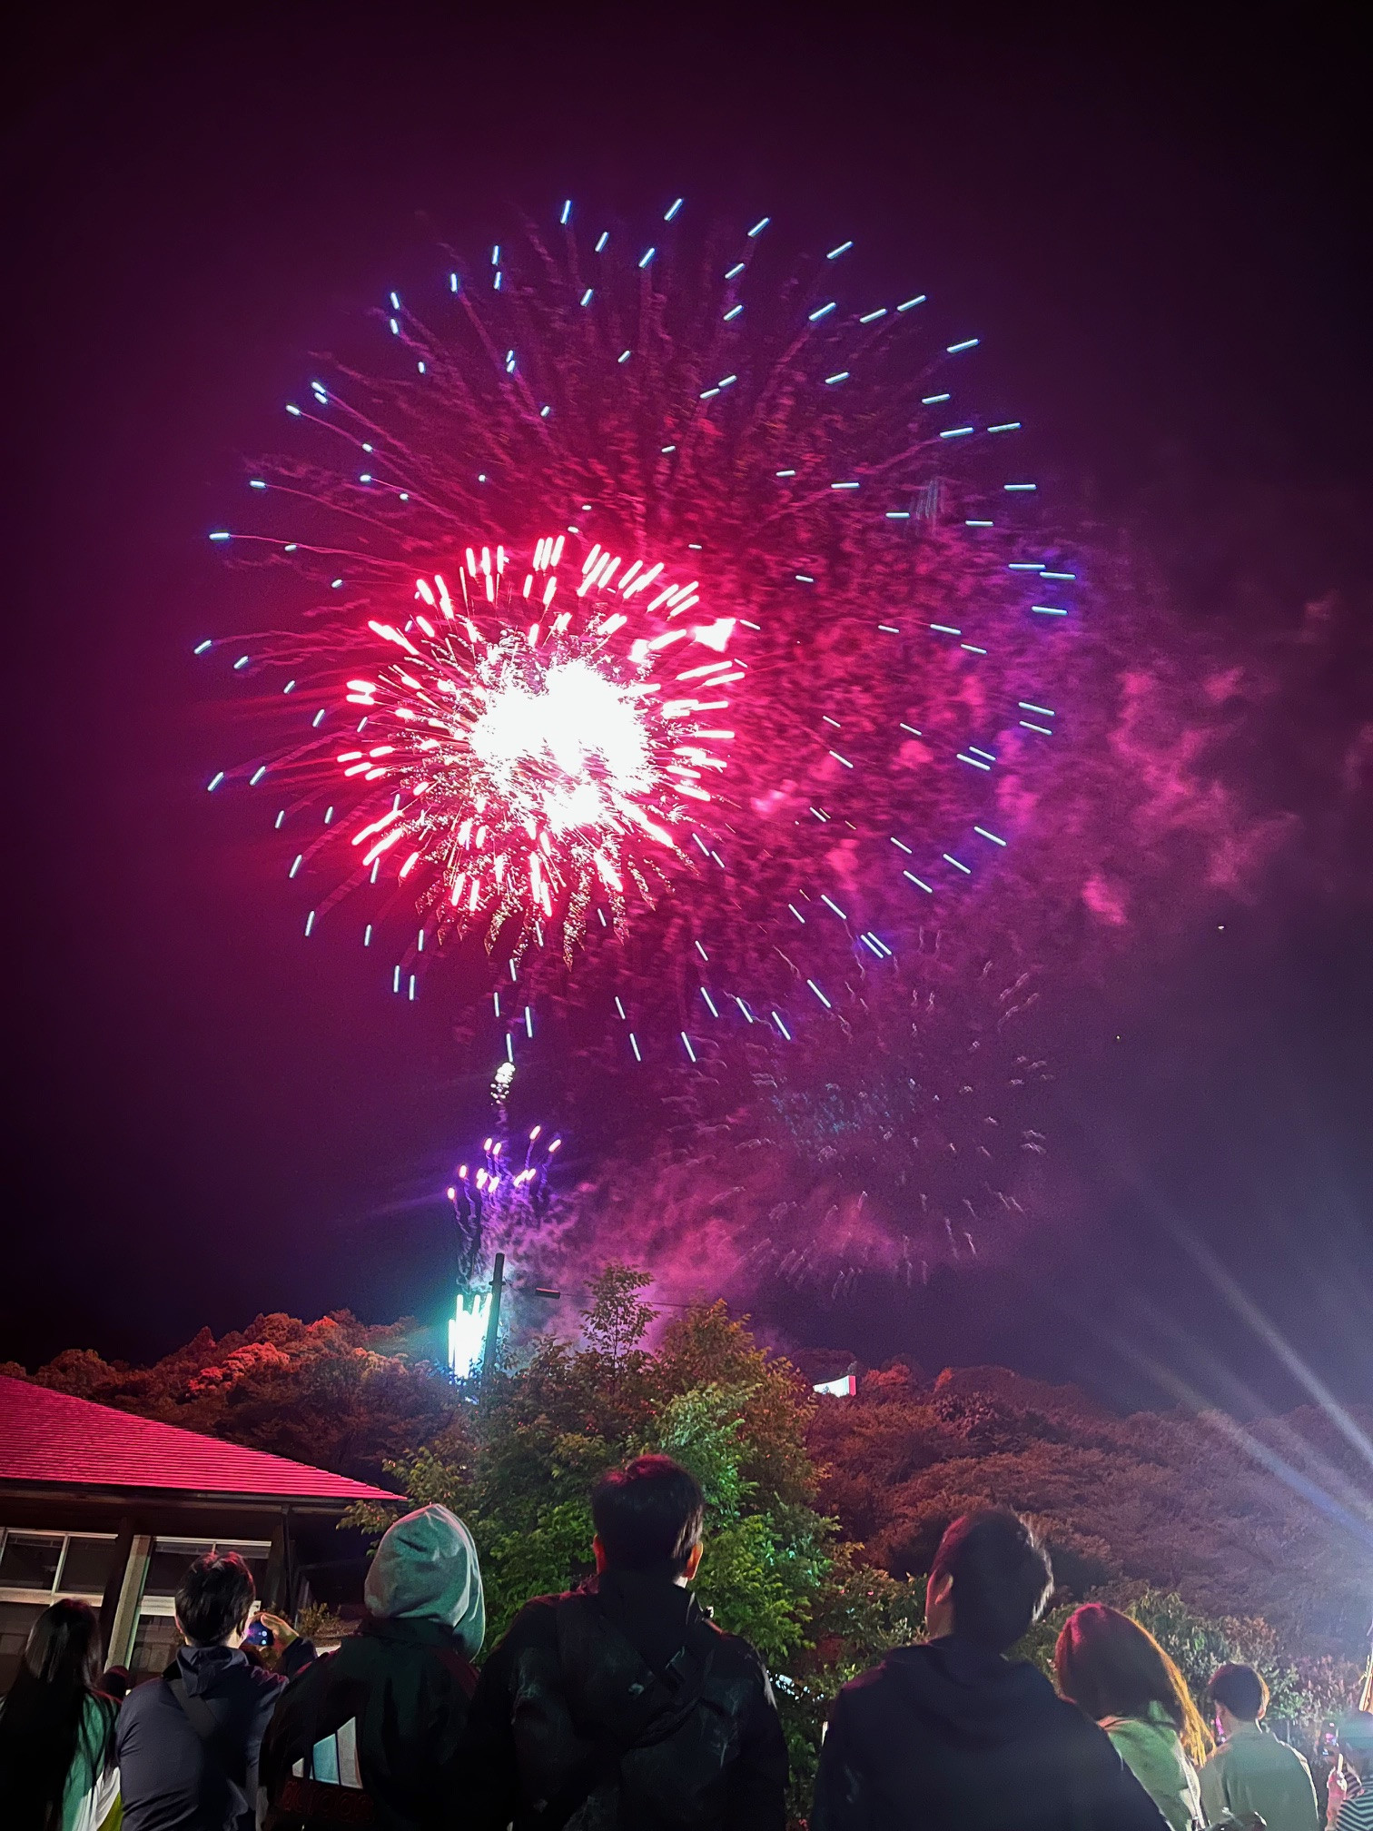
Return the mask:
POLYGON ((965 1749, 1000 1749, 1034 1736, 1060 1710, 1053 1685, 1025 1661, 948 1635, 899 1646, 882 1661, 906 1706, 965 1749))

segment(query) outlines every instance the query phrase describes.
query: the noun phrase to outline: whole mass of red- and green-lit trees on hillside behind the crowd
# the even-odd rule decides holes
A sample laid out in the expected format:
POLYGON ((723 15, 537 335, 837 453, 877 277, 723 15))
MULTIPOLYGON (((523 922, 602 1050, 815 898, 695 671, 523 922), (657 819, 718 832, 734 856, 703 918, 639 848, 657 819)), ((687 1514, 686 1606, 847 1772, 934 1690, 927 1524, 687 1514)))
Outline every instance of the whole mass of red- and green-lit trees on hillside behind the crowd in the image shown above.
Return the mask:
MULTIPOLYGON (((1205 1417, 1122 1419, 1003 1368, 928 1382, 897 1364, 864 1375, 853 1401, 816 1403, 723 1302, 644 1348, 648 1282, 608 1265, 578 1344, 540 1338, 480 1390, 450 1386, 412 1326, 348 1313, 201 1331, 143 1370, 70 1349, 37 1379, 346 1474, 384 1470, 408 1505, 452 1507, 481 1558, 487 1646, 531 1595, 588 1575, 606 1468, 644 1450, 677 1457, 707 1501, 697 1593, 774 1674, 798 1815, 829 1701, 919 1639, 939 1534, 978 1505, 1016 1507, 1049 1544, 1053 1608, 1014 1650, 1045 1674, 1071 1609, 1097 1598, 1162 1642, 1199 1703, 1227 1659, 1259 1666, 1270 1716, 1307 1743, 1357 1701, 1373 1566, 1261 1461, 1302 1454, 1325 1481, 1366 1487, 1324 1414, 1250 1426, 1247 1456, 1205 1417)), ((379 1536, 397 1509, 355 1507, 348 1523, 379 1536)))

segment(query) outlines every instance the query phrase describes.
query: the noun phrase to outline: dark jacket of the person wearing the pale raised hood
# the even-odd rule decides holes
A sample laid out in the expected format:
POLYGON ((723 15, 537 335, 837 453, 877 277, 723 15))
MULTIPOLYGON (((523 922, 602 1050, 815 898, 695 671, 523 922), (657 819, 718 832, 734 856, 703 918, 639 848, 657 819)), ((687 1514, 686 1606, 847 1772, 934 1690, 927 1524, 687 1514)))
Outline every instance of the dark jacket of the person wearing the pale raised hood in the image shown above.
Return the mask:
POLYGON ((267 1796, 278 1796, 293 1763, 308 1760, 317 1741, 353 1721, 359 1778, 377 1826, 450 1826, 465 1791, 459 1745, 474 1685, 476 1672, 443 1622, 364 1620, 276 1705, 262 1745, 267 1796))

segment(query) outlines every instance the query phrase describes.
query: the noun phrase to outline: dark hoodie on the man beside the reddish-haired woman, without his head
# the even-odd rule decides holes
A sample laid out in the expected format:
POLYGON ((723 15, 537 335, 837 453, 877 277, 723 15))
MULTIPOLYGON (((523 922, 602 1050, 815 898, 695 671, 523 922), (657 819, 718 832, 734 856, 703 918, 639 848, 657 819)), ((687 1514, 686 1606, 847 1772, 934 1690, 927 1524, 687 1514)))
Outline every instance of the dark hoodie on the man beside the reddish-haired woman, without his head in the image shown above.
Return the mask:
POLYGON ((835 1699, 811 1831, 1166 1831, 1109 1739, 1034 1666, 950 1635, 835 1699))

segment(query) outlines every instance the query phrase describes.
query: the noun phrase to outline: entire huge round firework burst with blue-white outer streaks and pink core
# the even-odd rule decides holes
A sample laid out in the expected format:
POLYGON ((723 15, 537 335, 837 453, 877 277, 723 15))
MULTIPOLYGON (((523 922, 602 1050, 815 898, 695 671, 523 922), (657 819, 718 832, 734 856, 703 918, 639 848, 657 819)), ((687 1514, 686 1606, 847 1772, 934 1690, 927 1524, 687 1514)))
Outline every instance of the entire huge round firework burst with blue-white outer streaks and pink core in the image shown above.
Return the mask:
POLYGON ((240 773, 287 789, 306 932, 357 910, 397 991, 480 934, 529 1035, 571 996, 626 1064, 848 1035, 1025 837, 1076 580, 1018 421, 923 293, 774 234, 564 207, 449 260, 289 403, 276 525, 218 531, 295 569, 236 666, 308 696, 240 773))

